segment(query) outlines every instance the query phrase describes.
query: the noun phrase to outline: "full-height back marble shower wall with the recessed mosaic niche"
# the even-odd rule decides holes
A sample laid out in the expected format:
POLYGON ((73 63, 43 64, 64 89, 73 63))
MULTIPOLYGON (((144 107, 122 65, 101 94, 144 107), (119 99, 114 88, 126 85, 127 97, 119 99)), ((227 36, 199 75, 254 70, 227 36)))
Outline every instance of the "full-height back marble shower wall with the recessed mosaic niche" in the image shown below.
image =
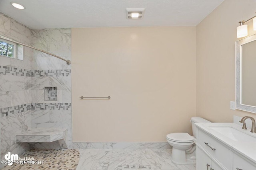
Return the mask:
MULTIPOLYGON (((32 29, 32 45, 71 60, 71 29, 32 29)), ((32 52, 36 57, 36 71, 31 77, 30 92, 31 100, 37 105, 31 111, 31 127, 67 128, 66 144, 72 148, 71 65, 40 51, 32 52), (44 87, 57 87, 56 101, 44 100, 44 87)), ((46 143, 36 146, 49 148, 46 143)))

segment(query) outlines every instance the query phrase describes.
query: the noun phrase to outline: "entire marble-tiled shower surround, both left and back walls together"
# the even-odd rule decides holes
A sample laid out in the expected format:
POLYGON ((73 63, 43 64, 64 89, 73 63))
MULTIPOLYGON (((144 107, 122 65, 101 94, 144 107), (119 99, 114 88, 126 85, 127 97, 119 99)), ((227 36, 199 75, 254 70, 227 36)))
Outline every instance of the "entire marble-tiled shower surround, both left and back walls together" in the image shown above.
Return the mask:
MULTIPOLYGON (((71 29, 30 29, 0 13, 0 34, 71 58, 71 29)), ((0 57, 0 112, 1 157, 8 151, 22 154, 28 149, 28 144, 15 143, 15 136, 32 128, 67 128, 66 143, 71 148, 70 65, 27 47, 23 61, 0 57), (44 87, 57 87, 58 100, 44 101, 44 87)))

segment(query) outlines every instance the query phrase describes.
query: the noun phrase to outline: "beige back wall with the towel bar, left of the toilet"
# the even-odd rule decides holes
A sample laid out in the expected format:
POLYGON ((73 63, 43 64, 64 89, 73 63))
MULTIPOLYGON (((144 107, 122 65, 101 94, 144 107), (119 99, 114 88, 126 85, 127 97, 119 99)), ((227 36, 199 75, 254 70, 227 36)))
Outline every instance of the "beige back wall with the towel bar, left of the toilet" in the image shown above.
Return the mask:
POLYGON ((166 142, 195 115, 195 27, 72 29, 73 142, 166 142))

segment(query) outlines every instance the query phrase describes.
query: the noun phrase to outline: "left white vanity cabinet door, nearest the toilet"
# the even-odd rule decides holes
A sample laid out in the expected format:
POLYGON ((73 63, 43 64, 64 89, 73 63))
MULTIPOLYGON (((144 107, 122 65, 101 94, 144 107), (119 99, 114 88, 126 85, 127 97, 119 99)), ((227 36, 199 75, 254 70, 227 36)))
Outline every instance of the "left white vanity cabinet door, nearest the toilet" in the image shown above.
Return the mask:
POLYGON ((196 169, 197 170, 210 170, 210 166, 211 166, 211 158, 205 154, 200 148, 198 149, 198 155, 197 155, 197 159, 198 159, 198 164, 196 165, 196 169))

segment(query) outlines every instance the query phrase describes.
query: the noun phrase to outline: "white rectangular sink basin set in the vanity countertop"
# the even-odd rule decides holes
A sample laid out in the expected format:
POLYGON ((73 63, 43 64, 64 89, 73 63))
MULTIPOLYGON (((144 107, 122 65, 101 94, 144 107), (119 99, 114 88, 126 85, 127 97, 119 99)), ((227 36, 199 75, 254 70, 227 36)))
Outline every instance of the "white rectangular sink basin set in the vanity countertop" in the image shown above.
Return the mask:
POLYGON ((221 133, 222 135, 232 139, 233 141, 241 141, 241 142, 250 142, 250 141, 256 141, 255 137, 252 137, 248 135, 247 133, 244 133, 242 131, 239 131, 233 127, 210 127, 211 129, 214 129, 218 133, 221 133))

